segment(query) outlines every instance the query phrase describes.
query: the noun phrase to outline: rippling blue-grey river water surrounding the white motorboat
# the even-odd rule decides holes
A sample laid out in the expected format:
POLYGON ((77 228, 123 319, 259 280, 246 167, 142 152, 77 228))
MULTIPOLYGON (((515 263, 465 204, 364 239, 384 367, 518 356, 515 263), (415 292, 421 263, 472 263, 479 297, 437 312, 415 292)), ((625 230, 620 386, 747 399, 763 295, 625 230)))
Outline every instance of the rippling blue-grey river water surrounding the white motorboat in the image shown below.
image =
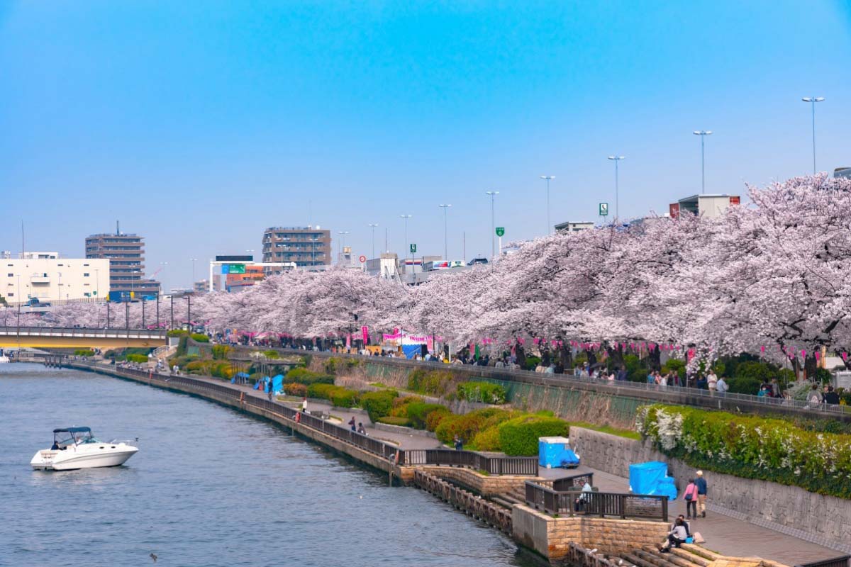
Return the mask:
POLYGON ((0 565, 529 567, 421 490, 221 405, 93 373, 0 365, 0 565), (32 471, 52 430, 140 438, 123 467, 32 471))

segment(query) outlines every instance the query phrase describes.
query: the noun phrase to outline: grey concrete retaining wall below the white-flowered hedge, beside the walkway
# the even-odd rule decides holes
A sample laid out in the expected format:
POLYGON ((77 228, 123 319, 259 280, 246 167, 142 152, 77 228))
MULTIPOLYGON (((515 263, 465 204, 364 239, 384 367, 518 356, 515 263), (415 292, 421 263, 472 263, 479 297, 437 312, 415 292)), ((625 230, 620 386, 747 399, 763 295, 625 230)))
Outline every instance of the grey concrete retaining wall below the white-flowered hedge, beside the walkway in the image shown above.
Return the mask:
MULTIPOLYGON (((570 440, 582 463, 605 473, 629 477, 634 462, 663 461, 677 479, 680 491, 695 470, 679 459, 656 451, 648 443, 585 428, 570 428, 570 440)), ((797 486, 765 480, 740 479, 704 471, 707 507, 824 547, 851 553, 851 502, 808 492, 797 486)))

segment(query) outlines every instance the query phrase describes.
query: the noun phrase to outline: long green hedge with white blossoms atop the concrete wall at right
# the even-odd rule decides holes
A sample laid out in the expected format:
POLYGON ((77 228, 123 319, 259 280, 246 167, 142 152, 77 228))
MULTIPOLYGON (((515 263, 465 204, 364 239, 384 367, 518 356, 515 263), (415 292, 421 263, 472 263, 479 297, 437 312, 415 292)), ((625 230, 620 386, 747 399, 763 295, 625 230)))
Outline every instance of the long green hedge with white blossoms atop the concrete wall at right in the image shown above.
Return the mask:
POLYGON ((637 429, 694 468, 851 498, 851 435, 792 422, 682 406, 646 405, 637 429))

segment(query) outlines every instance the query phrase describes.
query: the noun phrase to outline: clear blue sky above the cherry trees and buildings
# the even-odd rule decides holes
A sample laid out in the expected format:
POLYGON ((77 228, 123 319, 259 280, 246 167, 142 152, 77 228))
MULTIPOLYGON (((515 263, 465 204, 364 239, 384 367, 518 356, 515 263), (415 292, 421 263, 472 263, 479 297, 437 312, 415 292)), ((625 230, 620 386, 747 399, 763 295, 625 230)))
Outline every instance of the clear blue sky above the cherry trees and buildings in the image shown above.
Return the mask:
MULTIPOLYGON (((802 2, 0 0, 0 249, 145 235, 149 273, 197 277, 263 230, 369 223, 449 255, 700 191, 851 165, 851 7, 802 2)), ((163 275, 161 274, 161 275, 163 275)))

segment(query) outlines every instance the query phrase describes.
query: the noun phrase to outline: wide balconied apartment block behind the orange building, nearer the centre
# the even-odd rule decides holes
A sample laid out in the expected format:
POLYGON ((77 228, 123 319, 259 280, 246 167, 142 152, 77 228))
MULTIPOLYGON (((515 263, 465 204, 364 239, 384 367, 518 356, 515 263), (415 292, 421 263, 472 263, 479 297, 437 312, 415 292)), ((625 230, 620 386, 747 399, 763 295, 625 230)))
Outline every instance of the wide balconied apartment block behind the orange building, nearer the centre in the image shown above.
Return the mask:
POLYGON ((331 231, 318 226, 266 229, 263 262, 292 262, 300 268, 331 264, 331 231))

